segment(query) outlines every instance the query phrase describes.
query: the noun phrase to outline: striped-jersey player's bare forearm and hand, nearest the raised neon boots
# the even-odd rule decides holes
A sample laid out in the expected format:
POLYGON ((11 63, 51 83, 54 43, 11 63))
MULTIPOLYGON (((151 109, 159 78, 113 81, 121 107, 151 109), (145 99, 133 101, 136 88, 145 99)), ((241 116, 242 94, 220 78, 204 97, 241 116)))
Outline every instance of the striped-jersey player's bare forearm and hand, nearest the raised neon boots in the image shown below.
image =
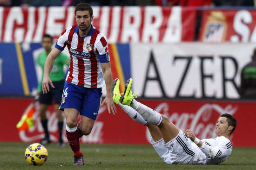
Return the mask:
POLYGON ((112 82, 113 82, 113 76, 112 76, 112 71, 111 71, 111 65, 110 62, 108 63, 101 63, 101 69, 104 73, 104 79, 106 83, 106 98, 104 101, 102 101, 101 106, 104 104, 107 104, 108 106, 108 113, 112 111, 113 114, 116 113, 116 107, 113 102, 113 92, 112 92, 112 82))

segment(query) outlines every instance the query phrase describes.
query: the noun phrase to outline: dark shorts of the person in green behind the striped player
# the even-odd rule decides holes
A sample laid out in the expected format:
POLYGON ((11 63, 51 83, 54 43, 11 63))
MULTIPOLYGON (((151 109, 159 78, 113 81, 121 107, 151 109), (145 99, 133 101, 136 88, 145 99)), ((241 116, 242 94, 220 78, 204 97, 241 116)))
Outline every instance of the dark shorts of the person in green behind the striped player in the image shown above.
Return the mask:
POLYGON ((53 84, 55 88, 52 88, 49 85, 50 91, 48 93, 43 94, 43 92, 41 92, 40 98, 39 98, 40 103, 51 105, 54 99, 55 104, 61 104, 61 96, 63 92, 64 81, 53 82, 53 84))

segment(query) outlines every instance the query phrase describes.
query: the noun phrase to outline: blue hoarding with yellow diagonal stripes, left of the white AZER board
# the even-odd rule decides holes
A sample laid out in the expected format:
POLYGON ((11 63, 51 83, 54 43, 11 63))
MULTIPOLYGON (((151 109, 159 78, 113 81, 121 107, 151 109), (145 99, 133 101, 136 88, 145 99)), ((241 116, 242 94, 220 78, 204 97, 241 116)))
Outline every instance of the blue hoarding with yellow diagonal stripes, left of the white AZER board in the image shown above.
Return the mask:
MULTIPOLYGON (((113 77, 119 77, 122 85, 130 75, 129 44, 109 44, 113 77), (127 68, 127 69, 122 69, 127 68)), ((43 51, 40 43, 0 43, 0 95, 34 96, 42 69, 37 58, 43 51)), ((70 56, 67 48, 63 50, 70 56)), ((67 67, 64 70, 67 74, 67 67)))

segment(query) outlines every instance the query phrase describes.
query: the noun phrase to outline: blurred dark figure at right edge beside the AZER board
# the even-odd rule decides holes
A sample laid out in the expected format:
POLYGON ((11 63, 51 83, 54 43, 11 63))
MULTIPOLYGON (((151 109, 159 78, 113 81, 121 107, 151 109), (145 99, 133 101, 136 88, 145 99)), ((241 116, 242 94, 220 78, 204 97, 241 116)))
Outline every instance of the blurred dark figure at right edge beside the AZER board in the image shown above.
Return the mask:
POLYGON ((253 51, 252 61, 241 71, 241 85, 239 94, 245 99, 256 99, 256 49, 253 51))

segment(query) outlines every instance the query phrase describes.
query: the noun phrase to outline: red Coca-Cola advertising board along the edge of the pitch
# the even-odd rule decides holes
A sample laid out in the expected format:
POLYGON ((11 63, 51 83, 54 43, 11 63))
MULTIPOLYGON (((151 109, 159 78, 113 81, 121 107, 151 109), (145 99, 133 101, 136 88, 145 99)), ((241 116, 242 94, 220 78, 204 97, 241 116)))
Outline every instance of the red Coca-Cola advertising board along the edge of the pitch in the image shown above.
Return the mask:
MULTIPOLYGON (((0 141, 32 142, 40 141, 44 132, 40 124, 38 108, 34 113, 34 127, 27 131, 18 132, 16 124, 23 112, 32 102, 28 98, 0 98, 1 132, 0 141)), ((153 100, 138 99, 141 103, 166 115, 176 126, 183 131, 191 129, 197 138, 215 138, 216 120, 222 113, 230 113, 237 120, 235 132, 231 135, 233 146, 256 146, 256 137, 251 135, 255 129, 256 101, 199 101, 199 100, 153 100)), ((57 142, 57 119, 49 107, 47 112, 50 137, 57 142)), ((90 144, 149 144, 150 134, 141 124, 133 121, 120 107, 117 114, 109 114, 106 106, 100 108, 90 135, 83 136, 81 143, 90 144)), ((65 131, 65 129, 63 130, 65 131)), ((66 137, 63 139, 67 142, 66 137)))

